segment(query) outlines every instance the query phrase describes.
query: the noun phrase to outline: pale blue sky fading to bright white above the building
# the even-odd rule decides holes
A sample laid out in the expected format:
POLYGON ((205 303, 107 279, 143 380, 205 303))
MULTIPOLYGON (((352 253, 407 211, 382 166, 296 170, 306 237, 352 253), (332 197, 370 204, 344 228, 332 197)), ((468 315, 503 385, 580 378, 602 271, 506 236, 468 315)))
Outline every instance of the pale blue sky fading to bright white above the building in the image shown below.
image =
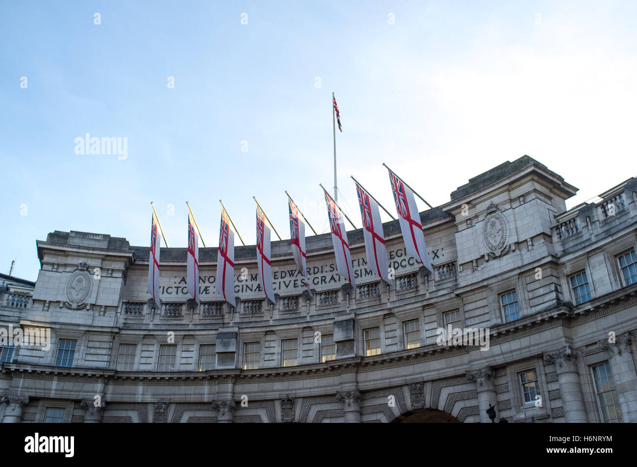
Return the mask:
POLYGON ((185 201, 216 246, 220 198, 248 244, 252 196, 289 238, 285 189, 325 231, 331 92, 343 124, 338 184, 357 225, 350 175, 392 208, 382 162, 435 206, 529 154, 580 188, 573 206, 637 175, 636 10, 1 1, 0 271, 16 259, 13 275, 35 280, 36 240, 54 230, 148 245, 150 201, 171 247, 187 243, 185 201), (126 137, 127 159, 75 154, 85 133, 126 137))

